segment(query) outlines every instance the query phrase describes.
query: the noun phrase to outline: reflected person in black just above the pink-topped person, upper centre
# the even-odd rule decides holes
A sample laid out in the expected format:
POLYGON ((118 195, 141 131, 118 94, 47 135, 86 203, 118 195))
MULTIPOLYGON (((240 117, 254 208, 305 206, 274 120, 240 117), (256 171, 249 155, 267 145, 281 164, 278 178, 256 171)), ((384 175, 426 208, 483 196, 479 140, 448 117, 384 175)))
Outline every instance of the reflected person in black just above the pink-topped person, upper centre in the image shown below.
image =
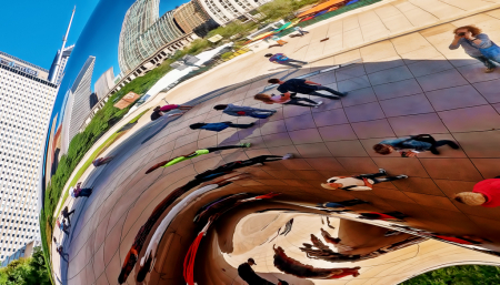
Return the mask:
POLYGON ((268 82, 271 84, 280 84, 277 88, 277 90, 283 94, 290 94, 290 92, 294 92, 327 99, 340 99, 341 96, 346 96, 348 94, 347 92, 342 93, 331 88, 326 88, 320 83, 316 83, 304 79, 289 79, 287 81, 281 81, 279 79, 273 78, 268 80, 268 82), (332 93, 333 95, 321 94, 317 92, 319 90, 326 90, 332 93))

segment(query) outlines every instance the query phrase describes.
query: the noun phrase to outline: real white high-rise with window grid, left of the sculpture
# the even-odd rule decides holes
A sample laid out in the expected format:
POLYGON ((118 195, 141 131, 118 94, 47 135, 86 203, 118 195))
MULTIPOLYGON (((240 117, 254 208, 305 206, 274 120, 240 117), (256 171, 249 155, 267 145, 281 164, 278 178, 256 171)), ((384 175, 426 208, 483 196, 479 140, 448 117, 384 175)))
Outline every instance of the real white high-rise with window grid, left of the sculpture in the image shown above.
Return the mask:
POLYGON ((40 240, 38 172, 57 94, 48 74, 0 52, 0 259, 40 240))

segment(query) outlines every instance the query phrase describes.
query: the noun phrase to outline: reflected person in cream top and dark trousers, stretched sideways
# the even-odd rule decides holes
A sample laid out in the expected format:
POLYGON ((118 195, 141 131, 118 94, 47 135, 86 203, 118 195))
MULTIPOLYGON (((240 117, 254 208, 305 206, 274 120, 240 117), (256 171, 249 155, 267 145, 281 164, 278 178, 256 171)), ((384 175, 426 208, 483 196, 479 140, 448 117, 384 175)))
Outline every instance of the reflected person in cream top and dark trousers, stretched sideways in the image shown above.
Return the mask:
POLYGON ((351 177, 338 176, 331 177, 327 183, 321 184, 323 189, 329 190, 346 190, 346 191, 370 191, 373 189, 373 184, 408 179, 407 175, 388 176, 384 169, 379 169, 379 173, 361 174, 351 177), (384 179, 379 179, 386 176, 384 179))

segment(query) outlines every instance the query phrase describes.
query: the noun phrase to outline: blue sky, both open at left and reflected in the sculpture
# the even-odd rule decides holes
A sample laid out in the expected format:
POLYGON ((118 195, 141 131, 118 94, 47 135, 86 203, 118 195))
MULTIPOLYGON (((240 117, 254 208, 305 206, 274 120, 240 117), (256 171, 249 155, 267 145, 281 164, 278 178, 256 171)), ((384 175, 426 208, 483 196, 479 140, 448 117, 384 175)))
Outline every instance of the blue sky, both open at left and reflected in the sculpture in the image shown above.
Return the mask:
MULTIPOLYGON (((96 57, 92 90, 93 83, 110 67, 113 67, 114 74, 120 72, 118 41, 123 17, 134 0, 4 2, 0 27, 9 27, 9 29, 2 29, 3 39, 0 41, 0 50, 46 69, 50 68, 57 50, 60 49, 72 8, 77 6, 68 37, 68 45, 76 43, 76 48, 66 68, 66 75, 50 120, 61 112, 64 94, 71 88, 89 55, 96 57), (20 16, 29 21, 20 20, 20 16)), ((187 0, 160 0, 160 16, 183 2, 187 0)), ((60 123, 60 120, 58 121, 60 123)))

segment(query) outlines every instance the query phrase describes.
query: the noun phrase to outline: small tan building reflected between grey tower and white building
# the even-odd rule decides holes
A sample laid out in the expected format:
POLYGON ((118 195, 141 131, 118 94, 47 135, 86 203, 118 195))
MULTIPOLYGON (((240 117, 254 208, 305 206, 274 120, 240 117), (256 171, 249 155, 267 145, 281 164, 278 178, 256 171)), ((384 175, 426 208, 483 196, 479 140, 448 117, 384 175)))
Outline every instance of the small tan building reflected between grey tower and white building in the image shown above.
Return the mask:
POLYGON ((199 0, 192 0, 181 4, 173 11, 173 20, 186 33, 194 32, 198 37, 204 37, 219 24, 204 11, 199 0))

